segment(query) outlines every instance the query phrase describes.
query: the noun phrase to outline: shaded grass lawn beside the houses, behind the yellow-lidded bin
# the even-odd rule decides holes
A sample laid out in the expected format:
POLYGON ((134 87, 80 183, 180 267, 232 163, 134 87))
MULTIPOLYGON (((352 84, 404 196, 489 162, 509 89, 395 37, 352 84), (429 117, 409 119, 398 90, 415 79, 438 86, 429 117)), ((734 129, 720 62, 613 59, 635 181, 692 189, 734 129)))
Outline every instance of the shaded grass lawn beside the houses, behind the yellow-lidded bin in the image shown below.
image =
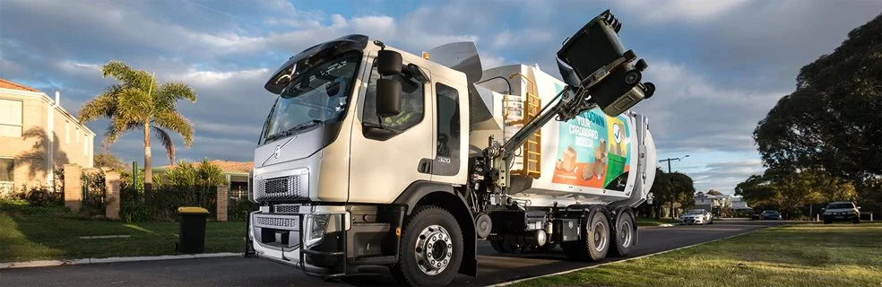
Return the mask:
MULTIPOLYGON (((240 252, 245 222, 208 222, 205 252, 240 252)), ((123 223, 0 213, 0 262, 179 254, 177 222, 123 223), (80 239, 81 236, 128 238, 80 239)))

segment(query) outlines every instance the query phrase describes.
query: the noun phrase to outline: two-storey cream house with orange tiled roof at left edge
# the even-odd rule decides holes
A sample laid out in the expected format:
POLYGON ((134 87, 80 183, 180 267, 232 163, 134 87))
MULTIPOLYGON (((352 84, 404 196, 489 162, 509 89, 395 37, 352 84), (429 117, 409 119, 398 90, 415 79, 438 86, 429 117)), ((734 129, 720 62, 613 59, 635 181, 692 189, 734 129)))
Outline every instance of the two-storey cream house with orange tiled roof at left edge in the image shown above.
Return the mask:
POLYGON ((54 186, 67 163, 92 167, 95 133, 46 93, 0 79, 0 194, 22 186, 54 186))

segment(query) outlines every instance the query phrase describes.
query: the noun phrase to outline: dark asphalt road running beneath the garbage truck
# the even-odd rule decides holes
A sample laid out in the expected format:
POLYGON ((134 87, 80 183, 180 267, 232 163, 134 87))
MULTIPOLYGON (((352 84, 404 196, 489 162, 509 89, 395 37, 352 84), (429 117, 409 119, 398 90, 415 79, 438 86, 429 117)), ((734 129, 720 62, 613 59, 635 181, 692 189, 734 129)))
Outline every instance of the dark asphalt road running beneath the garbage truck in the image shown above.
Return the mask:
MULTIPOLYGON (((640 242, 630 257, 722 239, 775 224, 780 223, 715 222, 707 226, 640 229, 640 242)), ((560 248, 545 254, 503 255, 480 241, 478 250, 478 276, 460 276, 454 285, 489 285, 596 265, 568 261, 560 248)), ((620 259, 610 257, 605 262, 620 259)), ((227 257, 4 269, 0 271, 0 286, 389 286, 394 283, 385 268, 367 271, 368 274, 325 282, 264 259, 227 257)))

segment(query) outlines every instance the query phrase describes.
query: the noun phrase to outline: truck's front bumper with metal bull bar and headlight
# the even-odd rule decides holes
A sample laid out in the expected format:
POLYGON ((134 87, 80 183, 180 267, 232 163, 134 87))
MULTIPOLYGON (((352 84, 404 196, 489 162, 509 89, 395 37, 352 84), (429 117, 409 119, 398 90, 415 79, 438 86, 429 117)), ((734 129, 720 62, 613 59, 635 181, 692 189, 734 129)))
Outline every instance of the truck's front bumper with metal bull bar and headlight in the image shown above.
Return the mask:
POLYGON ((324 278, 346 274, 346 213, 262 213, 248 217, 257 257, 324 278), (321 220, 325 224, 319 224, 321 220), (316 227, 324 225, 324 227, 316 227))

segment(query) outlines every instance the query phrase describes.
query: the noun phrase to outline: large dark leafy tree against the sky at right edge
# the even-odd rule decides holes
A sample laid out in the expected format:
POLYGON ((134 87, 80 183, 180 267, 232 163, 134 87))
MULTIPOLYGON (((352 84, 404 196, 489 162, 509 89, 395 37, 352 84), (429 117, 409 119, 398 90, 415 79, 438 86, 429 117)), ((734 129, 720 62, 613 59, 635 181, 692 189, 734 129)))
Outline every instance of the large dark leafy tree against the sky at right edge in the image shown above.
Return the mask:
POLYGON ((882 14, 800 69, 796 91, 754 130, 767 168, 826 170, 860 185, 882 175, 880 34, 882 14))

